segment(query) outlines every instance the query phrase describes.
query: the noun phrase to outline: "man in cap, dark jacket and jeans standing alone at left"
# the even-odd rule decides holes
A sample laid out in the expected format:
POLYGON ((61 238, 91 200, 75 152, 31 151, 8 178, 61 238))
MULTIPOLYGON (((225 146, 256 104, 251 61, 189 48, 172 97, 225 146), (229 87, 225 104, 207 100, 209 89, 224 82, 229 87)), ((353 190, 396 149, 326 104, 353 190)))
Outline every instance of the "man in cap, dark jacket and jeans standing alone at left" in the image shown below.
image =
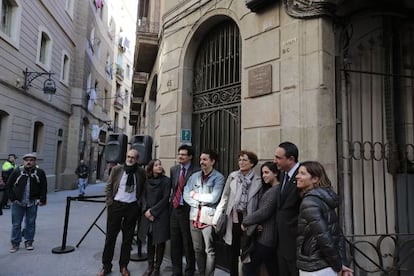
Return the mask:
POLYGON ((33 250, 37 206, 46 205, 47 180, 42 169, 36 168, 36 153, 23 156, 23 166, 14 170, 7 180, 6 190, 12 204, 12 234, 10 253, 19 249, 22 240, 22 221, 25 219, 24 239, 27 250, 33 250))

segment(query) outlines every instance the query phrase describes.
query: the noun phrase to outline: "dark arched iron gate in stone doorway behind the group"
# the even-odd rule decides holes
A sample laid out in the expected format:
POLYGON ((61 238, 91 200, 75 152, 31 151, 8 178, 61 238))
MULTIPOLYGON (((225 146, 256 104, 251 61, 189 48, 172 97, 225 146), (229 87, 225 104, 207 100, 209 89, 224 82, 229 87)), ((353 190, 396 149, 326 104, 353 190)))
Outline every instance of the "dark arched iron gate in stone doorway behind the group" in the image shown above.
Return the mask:
POLYGON ((193 133, 196 157, 206 148, 219 154, 225 176, 237 167, 240 151, 240 35, 221 22, 200 44, 194 66, 193 133))

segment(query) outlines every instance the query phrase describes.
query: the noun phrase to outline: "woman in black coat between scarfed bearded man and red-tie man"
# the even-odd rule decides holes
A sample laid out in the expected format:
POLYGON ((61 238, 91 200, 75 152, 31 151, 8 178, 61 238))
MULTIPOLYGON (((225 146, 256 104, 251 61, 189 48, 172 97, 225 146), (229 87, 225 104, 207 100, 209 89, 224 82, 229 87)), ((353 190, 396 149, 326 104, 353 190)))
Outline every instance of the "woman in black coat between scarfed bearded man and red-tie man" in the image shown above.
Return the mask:
POLYGON ((144 275, 157 276, 160 275, 165 242, 170 238, 168 200, 171 183, 158 159, 151 160, 146 171, 138 235, 141 241, 147 240, 148 269, 144 275))

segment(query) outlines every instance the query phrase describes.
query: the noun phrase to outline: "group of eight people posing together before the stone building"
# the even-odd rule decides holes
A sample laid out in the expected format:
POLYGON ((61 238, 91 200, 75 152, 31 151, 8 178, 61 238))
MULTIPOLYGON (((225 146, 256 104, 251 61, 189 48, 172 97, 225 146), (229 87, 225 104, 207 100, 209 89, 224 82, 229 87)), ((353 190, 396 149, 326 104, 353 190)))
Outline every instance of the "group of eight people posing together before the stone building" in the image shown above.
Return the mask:
POLYGON ((120 272, 130 275, 137 220, 138 237, 147 243, 146 276, 160 275, 168 240, 173 276, 193 276, 196 267, 198 275, 214 275, 218 238, 228 245, 232 276, 258 275, 262 265, 269 276, 352 275, 335 212, 338 196, 320 163, 299 163, 298 157, 296 145, 283 142, 259 175, 254 170, 257 155, 243 150, 239 170, 226 180, 214 168, 216 152, 202 151, 198 166, 193 147, 182 145, 169 178, 160 160, 152 160, 144 171, 137 164, 139 153, 129 150, 106 186, 107 235, 98 276, 111 272, 121 230, 120 272), (223 214, 225 231, 218 236, 223 214))

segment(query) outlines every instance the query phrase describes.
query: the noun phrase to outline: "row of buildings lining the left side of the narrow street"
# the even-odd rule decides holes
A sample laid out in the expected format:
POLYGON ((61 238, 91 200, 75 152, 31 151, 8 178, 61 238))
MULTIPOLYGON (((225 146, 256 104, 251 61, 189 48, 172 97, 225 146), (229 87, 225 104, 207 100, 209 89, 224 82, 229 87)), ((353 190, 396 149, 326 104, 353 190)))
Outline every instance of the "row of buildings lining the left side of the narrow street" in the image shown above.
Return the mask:
POLYGON ((108 133, 131 134, 137 1, 0 4, 0 160, 36 151, 49 190, 76 187, 80 159, 105 178, 108 133))

